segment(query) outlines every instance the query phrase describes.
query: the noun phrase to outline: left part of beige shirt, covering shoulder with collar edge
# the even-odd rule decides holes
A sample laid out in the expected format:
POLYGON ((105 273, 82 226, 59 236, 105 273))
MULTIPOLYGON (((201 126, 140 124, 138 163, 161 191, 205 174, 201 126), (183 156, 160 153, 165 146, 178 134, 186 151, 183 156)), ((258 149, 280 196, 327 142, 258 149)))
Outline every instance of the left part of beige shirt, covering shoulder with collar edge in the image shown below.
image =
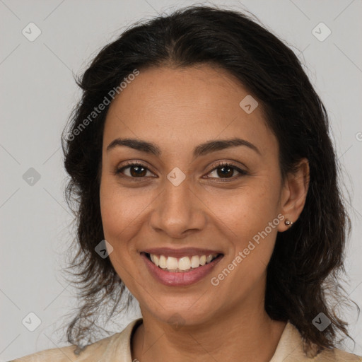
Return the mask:
POLYGON ((88 344, 81 351, 75 345, 62 348, 46 349, 44 351, 30 354, 8 362, 98 362, 128 361, 130 354, 130 339, 134 328, 141 323, 141 319, 134 320, 122 332, 113 334, 110 337, 100 339, 93 344, 88 344), (122 357, 119 359, 119 357, 122 357), (116 361, 116 359, 114 360, 116 361))

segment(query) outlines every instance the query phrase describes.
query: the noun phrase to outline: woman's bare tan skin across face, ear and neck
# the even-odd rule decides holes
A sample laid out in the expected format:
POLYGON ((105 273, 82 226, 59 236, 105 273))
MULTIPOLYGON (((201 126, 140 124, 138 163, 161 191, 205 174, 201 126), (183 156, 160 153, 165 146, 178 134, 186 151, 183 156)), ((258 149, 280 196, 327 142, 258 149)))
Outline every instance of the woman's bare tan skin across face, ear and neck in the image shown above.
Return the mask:
POLYGON ((248 94, 221 69, 165 66, 140 70, 110 105, 100 206, 105 239, 114 248, 110 260, 144 318, 132 338, 132 360, 267 362, 274 354, 286 323, 264 310, 266 269, 276 233, 289 226, 281 221, 218 286, 210 283, 278 214, 296 221, 308 191, 308 160, 282 182, 278 142, 262 106, 250 114, 239 106, 248 94), (260 154, 237 146, 192 158, 195 146, 235 136, 260 154), (162 153, 127 146, 107 152, 117 137, 153 142, 162 153), (127 168, 124 177, 115 175, 127 160, 141 161, 147 173, 137 177, 127 168), (247 175, 231 169, 223 177, 218 161, 247 175), (167 178, 175 167, 186 177, 177 187, 167 178), (224 256, 196 284, 164 286, 140 257, 148 247, 207 247, 224 256), (177 316, 178 326, 169 321, 177 316))

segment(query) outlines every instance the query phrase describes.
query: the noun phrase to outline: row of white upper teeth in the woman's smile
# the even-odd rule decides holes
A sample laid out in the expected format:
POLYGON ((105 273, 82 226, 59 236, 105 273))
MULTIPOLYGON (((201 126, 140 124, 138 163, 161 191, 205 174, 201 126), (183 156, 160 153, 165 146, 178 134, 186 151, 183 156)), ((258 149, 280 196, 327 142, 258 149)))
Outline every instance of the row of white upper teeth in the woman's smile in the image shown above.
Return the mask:
POLYGON ((214 255, 192 255, 192 257, 165 257, 165 255, 150 254, 151 261, 156 267, 166 269, 168 271, 185 271, 198 268, 199 266, 209 264, 217 254, 214 255))

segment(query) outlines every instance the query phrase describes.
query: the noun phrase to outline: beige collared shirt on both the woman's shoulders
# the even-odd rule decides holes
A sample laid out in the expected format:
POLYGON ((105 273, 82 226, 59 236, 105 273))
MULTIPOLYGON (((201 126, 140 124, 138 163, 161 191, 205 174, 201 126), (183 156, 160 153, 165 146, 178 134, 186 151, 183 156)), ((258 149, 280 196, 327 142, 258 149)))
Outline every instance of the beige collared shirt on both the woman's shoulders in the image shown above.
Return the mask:
MULTIPOLYGON (((78 355, 74 354, 76 346, 66 346, 59 349, 47 349, 9 362, 132 362, 132 332, 141 322, 141 318, 132 321, 122 332, 89 344, 78 355)), ((270 362, 312 361, 362 362, 362 357, 342 351, 341 349, 331 349, 322 351, 314 358, 308 358, 303 352, 303 340, 298 329, 288 322, 270 362)))

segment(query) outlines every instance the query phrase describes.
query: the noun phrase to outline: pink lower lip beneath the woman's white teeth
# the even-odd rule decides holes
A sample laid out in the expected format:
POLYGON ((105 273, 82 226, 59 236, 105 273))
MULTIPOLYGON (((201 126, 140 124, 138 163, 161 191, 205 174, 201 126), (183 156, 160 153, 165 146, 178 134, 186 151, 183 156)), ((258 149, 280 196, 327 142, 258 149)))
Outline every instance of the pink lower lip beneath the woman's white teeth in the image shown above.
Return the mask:
POLYGON ((148 271, 152 274, 152 276, 160 283, 165 286, 189 286, 191 284, 197 283, 203 279, 207 274, 211 272, 212 269, 220 262, 223 258, 223 255, 219 255, 214 259, 211 263, 205 264, 202 267, 198 267, 196 269, 190 271, 179 271, 177 273, 173 271, 165 271, 159 267, 156 267, 151 260, 146 257, 144 252, 141 253, 142 259, 146 263, 146 267, 148 271))

